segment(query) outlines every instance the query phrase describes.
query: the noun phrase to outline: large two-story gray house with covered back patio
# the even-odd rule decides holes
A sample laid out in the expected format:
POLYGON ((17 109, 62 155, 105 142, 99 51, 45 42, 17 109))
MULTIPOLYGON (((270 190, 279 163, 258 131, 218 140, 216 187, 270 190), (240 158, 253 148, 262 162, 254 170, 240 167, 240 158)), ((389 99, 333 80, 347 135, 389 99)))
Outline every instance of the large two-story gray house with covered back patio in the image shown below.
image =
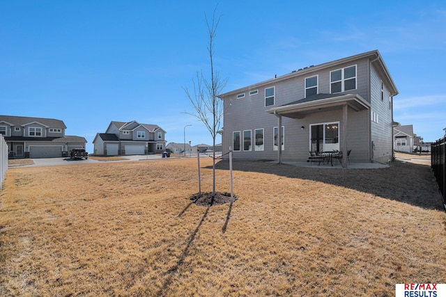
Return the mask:
POLYGON ((388 162, 397 94, 378 50, 224 93, 223 154, 280 162, 351 150, 352 162, 388 162))

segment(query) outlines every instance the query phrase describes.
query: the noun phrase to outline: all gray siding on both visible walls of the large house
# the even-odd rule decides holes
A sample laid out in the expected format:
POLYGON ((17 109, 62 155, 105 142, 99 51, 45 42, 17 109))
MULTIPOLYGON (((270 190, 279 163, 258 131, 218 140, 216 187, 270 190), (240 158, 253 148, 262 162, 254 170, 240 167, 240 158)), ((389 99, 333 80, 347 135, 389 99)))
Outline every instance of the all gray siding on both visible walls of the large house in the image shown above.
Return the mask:
MULTIPOLYGON (((224 96, 224 134, 222 136, 222 152, 228 152, 233 146, 233 132, 240 131, 240 151, 233 152, 234 159, 272 159, 277 160, 278 152, 273 150, 273 127, 278 126, 278 118, 267 113, 268 109, 289 104, 305 98, 305 78, 318 76, 318 93, 330 93, 330 72, 356 65, 356 89, 347 90, 339 95, 357 94, 364 98, 371 108, 355 111, 348 108, 347 149, 352 150, 350 160, 355 162, 375 161, 387 162, 392 158, 392 107, 389 104, 389 88, 384 88, 384 99, 381 100, 381 80, 369 58, 361 57, 355 61, 340 63, 330 67, 312 67, 303 74, 286 74, 284 77, 270 79, 253 86, 239 89, 224 96), (275 104, 265 106, 265 89, 275 87, 275 104), (256 95, 249 95, 249 90, 259 90, 256 95), (236 95, 245 93, 245 97, 237 99, 236 95), (371 121, 371 111, 378 114, 378 123, 371 121), (263 129, 263 151, 254 150, 254 131, 263 129), (243 131, 252 131, 252 150, 243 151, 243 131), (371 142, 375 149, 372 150, 371 142)), ((387 78, 386 78, 387 79, 387 78)), ((387 81, 392 83, 392 81, 387 81)), ((390 89, 393 87, 390 86, 390 89)), ((308 157, 310 143, 310 125, 339 122, 342 125, 342 109, 321 111, 307 115, 302 119, 282 117, 284 126, 284 150, 282 160, 305 161, 308 157), (304 126, 305 129, 300 129, 304 126)), ((341 138, 341 131, 339 138, 341 138)), ((341 143, 339 139, 339 143, 341 143)))

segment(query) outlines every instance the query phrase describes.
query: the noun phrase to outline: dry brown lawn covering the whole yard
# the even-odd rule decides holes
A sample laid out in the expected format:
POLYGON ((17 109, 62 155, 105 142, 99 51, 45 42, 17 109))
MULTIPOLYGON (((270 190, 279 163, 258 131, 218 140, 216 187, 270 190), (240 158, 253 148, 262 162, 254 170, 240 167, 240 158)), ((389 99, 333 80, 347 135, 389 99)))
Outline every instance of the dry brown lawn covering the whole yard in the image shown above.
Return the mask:
MULTIPOLYGON (((210 191, 210 158, 201 159, 210 191)), ((446 283, 429 166, 235 161, 233 204, 191 204, 197 159, 10 168, 0 296, 394 296, 446 283)), ((228 163, 217 190, 229 191, 228 163)))

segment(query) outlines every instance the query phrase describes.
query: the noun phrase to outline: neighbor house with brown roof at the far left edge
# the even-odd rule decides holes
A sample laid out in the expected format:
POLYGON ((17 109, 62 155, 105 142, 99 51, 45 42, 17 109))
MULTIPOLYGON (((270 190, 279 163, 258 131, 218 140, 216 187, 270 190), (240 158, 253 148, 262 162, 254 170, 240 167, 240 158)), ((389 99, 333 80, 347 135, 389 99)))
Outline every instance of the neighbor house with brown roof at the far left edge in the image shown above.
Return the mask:
POLYGON ((0 134, 13 158, 56 158, 68 156, 74 148, 85 148, 86 139, 66 136, 61 120, 0 115, 0 134))

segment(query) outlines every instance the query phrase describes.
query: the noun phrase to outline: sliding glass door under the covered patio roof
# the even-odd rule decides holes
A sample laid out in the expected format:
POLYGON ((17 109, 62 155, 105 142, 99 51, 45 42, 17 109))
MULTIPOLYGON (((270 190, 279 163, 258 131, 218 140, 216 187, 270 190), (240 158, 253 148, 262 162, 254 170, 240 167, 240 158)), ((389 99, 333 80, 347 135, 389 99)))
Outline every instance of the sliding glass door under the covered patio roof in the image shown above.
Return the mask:
POLYGON ((310 125, 310 149, 313 152, 339 150, 339 122, 310 125))

